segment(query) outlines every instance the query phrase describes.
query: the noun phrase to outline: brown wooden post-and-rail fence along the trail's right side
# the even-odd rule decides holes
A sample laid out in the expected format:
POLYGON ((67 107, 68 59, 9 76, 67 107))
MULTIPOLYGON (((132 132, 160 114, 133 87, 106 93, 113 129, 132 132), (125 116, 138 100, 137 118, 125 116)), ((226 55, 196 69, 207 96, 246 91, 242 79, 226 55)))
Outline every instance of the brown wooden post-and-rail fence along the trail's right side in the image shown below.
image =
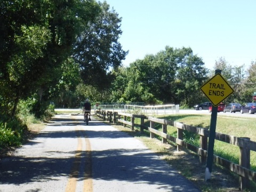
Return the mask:
MULTIPOLYGON (((148 130, 150 132, 150 138, 154 138, 155 135, 159 135, 162 137, 163 143, 166 143, 167 140, 172 141, 177 144, 177 150, 187 148, 191 151, 194 151, 194 153, 199 156, 199 161, 201 163, 206 162, 209 130, 205 128, 194 127, 183 123, 169 121, 167 119, 159 119, 151 116, 117 112, 113 113, 112 111, 105 110, 97 110, 97 115, 103 118, 104 121, 109 121, 110 123, 122 123, 123 126, 129 125, 131 126, 131 130, 134 130, 134 126, 140 127, 141 133, 143 133, 143 130, 148 130), (127 117, 130 117, 129 121, 127 120, 127 117), (140 118, 140 124, 134 123, 135 118, 140 118), (145 119, 148 119, 150 122, 149 127, 144 125, 145 119), (162 131, 154 129, 155 123, 162 124, 162 131), (177 127, 177 138, 167 134, 167 125, 177 127), (183 140, 183 131, 185 130, 196 133, 200 136, 199 147, 191 145, 190 143, 183 140)), ((239 147, 239 165, 216 155, 213 156, 213 161, 214 163, 223 166, 226 169, 239 175, 239 186, 241 190, 249 188, 250 180, 254 182, 256 181, 256 172, 250 170, 250 151, 256 151, 256 142, 250 141, 250 138, 240 138, 222 133, 215 133, 215 139, 239 147)))

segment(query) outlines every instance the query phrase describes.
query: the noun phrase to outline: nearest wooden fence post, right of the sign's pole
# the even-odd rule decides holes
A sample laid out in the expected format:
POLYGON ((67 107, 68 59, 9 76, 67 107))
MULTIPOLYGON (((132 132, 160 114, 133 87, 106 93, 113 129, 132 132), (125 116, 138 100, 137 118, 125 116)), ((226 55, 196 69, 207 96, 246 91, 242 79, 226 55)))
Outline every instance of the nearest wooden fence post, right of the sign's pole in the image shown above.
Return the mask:
MULTIPOLYGON (((241 138, 243 139, 243 147, 240 148, 240 158, 239 158, 239 165, 243 166, 247 169, 250 169, 250 138, 241 138)), ((250 188, 250 180, 248 178, 239 177, 240 189, 249 189, 250 188)))

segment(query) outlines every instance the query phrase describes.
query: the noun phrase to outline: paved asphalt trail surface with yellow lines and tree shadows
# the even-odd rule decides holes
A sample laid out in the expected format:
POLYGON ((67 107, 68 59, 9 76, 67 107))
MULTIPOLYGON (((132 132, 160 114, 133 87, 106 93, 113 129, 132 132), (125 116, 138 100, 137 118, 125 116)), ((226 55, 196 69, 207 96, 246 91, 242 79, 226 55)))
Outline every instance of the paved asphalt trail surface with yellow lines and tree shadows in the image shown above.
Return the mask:
POLYGON ((0 191, 200 191, 143 143, 82 115, 56 115, 0 161, 0 191))

